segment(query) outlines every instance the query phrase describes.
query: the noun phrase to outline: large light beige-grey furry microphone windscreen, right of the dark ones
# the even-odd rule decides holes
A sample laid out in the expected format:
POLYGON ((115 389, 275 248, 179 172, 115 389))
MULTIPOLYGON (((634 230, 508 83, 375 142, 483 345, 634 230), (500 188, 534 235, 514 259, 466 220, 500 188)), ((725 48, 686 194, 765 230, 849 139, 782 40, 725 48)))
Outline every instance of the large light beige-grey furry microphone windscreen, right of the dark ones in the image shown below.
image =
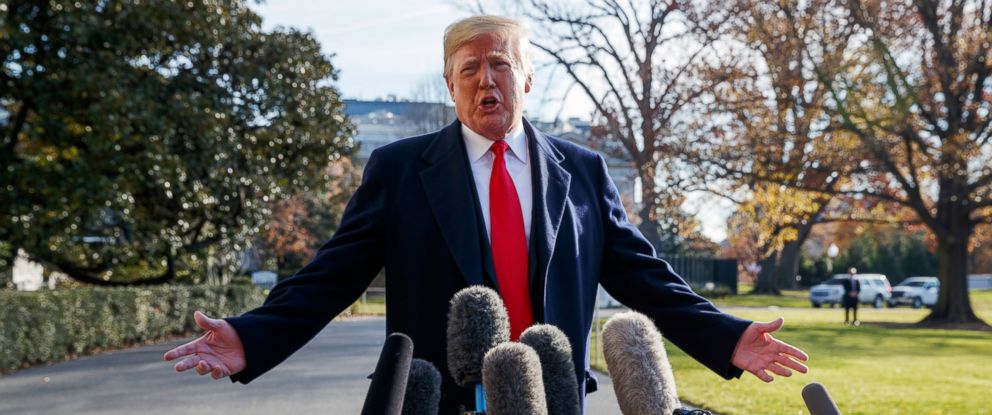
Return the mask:
POLYGON ((661 333, 643 314, 610 318, 603 326, 603 354, 624 415, 670 414, 682 406, 661 333))

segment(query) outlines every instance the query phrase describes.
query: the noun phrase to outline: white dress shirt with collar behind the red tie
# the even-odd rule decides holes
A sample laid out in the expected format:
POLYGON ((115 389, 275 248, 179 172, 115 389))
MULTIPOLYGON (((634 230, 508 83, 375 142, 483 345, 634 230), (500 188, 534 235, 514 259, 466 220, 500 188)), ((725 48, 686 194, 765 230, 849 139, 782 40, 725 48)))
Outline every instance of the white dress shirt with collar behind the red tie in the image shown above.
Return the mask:
MULTIPOLYGON (((489 220, 489 176, 493 171, 493 160, 496 155, 490 150, 493 141, 483 137, 479 133, 472 131, 462 124, 462 137, 465 139, 465 151, 468 153, 468 160, 472 165, 472 176, 475 178, 475 189, 479 194, 479 205, 482 207, 482 218, 486 222, 486 234, 492 237, 489 220)), ((507 134, 503 139, 509 145, 503 159, 506 161, 506 170, 513 179, 513 187, 517 189, 517 197, 520 198, 520 210, 524 217, 524 234, 527 236, 527 244, 530 245, 530 221, 531 208, 533 206, 533 192, 531 183, 530 157, 527 154, 527 134, 524 133, 523 124, 507 134)))

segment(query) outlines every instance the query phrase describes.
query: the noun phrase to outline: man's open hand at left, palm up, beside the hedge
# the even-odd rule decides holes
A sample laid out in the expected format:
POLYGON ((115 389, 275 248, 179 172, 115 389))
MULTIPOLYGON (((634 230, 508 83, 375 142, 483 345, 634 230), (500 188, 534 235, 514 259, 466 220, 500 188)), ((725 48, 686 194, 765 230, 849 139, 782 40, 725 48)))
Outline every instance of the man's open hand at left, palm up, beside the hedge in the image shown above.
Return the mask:
POLYGON ((197 311, 193 320, 207 332, 200 338, 165 352, 165 360, 183 359, 176 363, 176 371, 196 368, 200 375, 210 374, 214 379, 231 376, 244 370, 245 349, 234 327, 221 319, 207 317, 197 311))

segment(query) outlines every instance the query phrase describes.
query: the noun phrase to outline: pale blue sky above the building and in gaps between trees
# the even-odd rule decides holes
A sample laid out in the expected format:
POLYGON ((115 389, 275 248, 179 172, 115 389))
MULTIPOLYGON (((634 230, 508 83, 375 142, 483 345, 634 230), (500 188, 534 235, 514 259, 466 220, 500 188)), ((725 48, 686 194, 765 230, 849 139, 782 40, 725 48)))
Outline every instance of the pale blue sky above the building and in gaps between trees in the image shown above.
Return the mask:
MULTIPOLYGON (((439 0, 269 0, 252 8, 262 16, 266 30, 292 26, 311 31, 324 53, 334 54, 337 87, 346 98, 359 99, 410 98, 425 79, 440 77, 444 28, 468 15, 439 0)), ((535 56, 535 64, 540 59, 535 56)), ((547 88, 553 82, 550 75, 544 70, 535 76, 525 104, 530 117, 549 118, 559 110, 560 104, 547 101, 560 98, 567 85, 552 83, 547 88)), ((572 94, 562 115, 588 118, 590 109, 588 101, 572 94)), ((684 207, 697 213, 704 234, 716 241, 726 237, 730 210, 725 200, 690 195, 684 207)))

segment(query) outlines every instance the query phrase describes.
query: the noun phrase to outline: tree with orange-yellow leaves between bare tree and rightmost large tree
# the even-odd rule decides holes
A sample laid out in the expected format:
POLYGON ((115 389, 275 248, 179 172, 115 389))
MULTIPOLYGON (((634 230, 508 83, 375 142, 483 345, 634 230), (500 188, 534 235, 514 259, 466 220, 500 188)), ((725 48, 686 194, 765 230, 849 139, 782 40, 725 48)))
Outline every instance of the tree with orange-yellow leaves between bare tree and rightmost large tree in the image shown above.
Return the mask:
MULTIPOLYGON (((811 33, 836 22, 826 13, 826 0, 740 0, 718 7, 733 11, 720 44, 732 58, 713 68, 715 78, 726 81, 715 89, 714 110, 700 117, 698 130, 706 134, 696 140, 693 160, 717 184, 710 191, 738 205, 732 231, 749 235, 756 246, 747 252, 757 253, 761 265, 755 292, 779 294, 780 284, 795 285, 800 248, 833 198, 780 183, 829 190, 843 179, 821 168, 843 154, 843 146, 831 142, 828 88, 804 53, 811 33), (729 196, 735 193, 742 197, 729 196)), ((818 39, 825 42, 817 56, 823 72, 843 68, 849 36, 818 39)))

